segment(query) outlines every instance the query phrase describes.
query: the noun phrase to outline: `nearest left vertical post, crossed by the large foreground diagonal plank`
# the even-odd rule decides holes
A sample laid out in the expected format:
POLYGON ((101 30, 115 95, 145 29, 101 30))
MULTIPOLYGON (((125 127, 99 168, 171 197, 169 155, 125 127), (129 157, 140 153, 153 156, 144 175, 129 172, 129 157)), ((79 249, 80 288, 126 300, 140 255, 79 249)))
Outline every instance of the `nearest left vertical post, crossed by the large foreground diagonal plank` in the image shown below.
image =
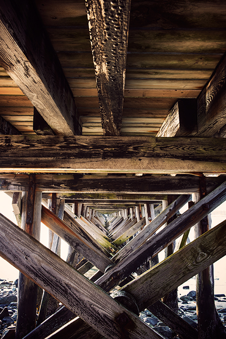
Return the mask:
MULTIPOLYGON (((30 235, 40 240, 41 225, 41 192, 35 192, 35 175, 29 175, 28 192, 22 193, 21 226, 30 235)), ((16 324, 16 339, 23 338, 35 328, 36 303, 38 286, 19 274, 18 315, 16 324)))

